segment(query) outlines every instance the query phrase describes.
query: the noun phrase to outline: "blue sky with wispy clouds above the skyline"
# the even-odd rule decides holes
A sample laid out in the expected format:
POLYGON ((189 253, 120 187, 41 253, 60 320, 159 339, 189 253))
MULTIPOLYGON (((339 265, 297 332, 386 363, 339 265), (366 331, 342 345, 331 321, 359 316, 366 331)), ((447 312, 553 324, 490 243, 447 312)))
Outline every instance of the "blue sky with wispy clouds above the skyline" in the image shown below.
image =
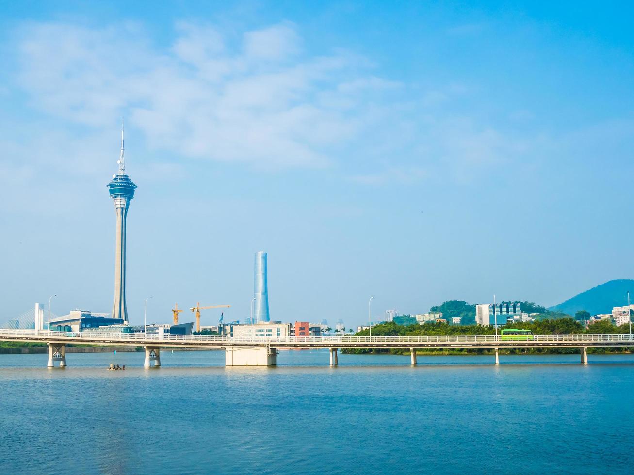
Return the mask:
POLYGON ((110 311, 122 117, 132 322, 243 319, 259 250, 271 317, 351 326, 631 277, 633 13, 3 3, 3 313, 110 311))

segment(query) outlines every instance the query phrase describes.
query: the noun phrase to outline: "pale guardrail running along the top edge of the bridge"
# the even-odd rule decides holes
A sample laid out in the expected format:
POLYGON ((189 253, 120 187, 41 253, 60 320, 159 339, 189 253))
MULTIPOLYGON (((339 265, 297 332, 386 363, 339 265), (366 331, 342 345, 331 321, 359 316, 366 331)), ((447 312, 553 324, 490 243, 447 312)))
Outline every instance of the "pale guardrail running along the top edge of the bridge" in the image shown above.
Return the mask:
POLYGON ((67 332, 48 330, 0 329, 0 336, 15 336, 16 338, 53 338, 68 339, 87 343, 94 341, 151 341, 159 342, 191 342, 191 343, 313 343, 330 344, 363 344, 363 343, 630 343, 634 337, 630 334, 571 334, 571 335, 531 335, 528 336, 495 336, 495 335, 439 335, 439 336, 288 336, 288 337, 232 337, 232 336, 204 336, 204 335, 164 335, 160 337, 147 333, 109 333, 109 332, 67 332), (517 339, 516 339, 517 338, 517 339))

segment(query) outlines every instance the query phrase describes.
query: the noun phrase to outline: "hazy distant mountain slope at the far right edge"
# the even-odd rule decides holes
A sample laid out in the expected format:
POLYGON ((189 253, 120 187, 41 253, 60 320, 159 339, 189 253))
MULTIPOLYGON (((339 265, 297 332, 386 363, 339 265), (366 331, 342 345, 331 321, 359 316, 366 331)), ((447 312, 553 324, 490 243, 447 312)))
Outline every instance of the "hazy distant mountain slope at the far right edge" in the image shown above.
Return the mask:
POLYGON ((548 310, 559 310, 568 315, 574 315, 578 310, 586 310, 592 315, 611 314, 612 307, 627 305, 628 290, 631 293, 632 303, 634 303, 634 281, 615 279, 581 292, 559 305, 548 308, 548 310))

